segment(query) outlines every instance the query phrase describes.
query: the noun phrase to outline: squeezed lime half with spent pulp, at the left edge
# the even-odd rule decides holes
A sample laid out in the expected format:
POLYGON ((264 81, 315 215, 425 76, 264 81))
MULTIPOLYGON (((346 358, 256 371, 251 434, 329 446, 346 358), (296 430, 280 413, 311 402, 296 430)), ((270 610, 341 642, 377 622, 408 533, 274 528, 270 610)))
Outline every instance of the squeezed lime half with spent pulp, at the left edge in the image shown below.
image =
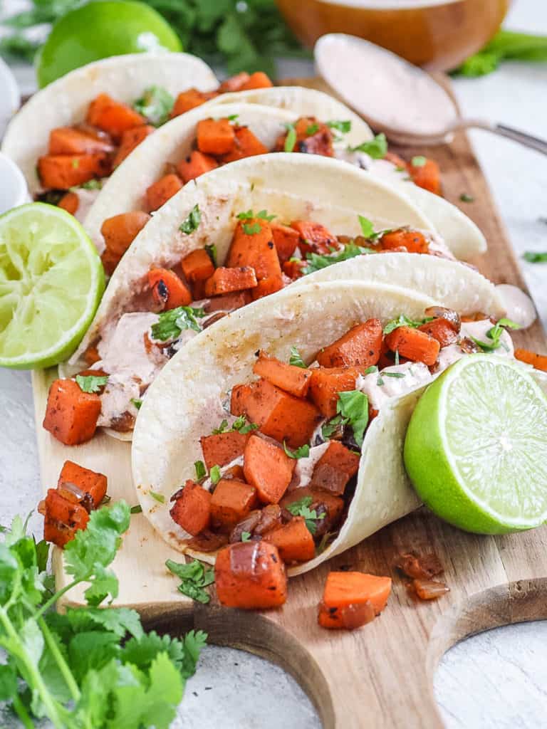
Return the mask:
POLYGON ((104 291, 85 230, 61 208, 31 203, 0 216, 0 367, 30 370, 69 357, 104 291))

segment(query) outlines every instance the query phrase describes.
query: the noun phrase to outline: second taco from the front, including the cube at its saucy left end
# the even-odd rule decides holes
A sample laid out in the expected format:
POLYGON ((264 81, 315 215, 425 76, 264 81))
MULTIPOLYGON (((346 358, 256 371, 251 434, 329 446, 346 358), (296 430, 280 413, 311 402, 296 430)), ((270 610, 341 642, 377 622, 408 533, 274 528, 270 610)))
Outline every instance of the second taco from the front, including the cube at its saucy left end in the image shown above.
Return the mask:
POLYGON ((131 439, 148 386, 198 332, 314 271, 335 280, 344 260, 362 281, 406 284, 462 313, 503 314, 494 286, 439 256, 440 246, 406 198, 351 165, 276 154, 218 168, 169 200, 125 253, 73 369, 61 368, 83 370, 95 389, 83 397, 74 381, 55 381, 44 425, 69 445, 96 426, 131 439), (82 399, 87 416, 71 429, 82 399))

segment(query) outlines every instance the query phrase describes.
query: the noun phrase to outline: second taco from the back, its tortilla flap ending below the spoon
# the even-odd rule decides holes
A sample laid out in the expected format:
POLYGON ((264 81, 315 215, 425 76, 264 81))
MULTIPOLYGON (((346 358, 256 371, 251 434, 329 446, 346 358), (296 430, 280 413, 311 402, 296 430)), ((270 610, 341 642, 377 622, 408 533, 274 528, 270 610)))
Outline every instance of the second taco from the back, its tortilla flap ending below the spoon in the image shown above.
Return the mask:
POLYGON ((106 183, 85 228, 103 254, 106 273, 112 273, 150 214, 187 182, 244 157, 303 152, 352 161, 387 179, 432 221, 455 257, 469 260, 484 251, 484 236, 458 208, 405 182, 408 175, 397 172, 395 164, 371 157, 385 152, 371 136, 356 114, 319 91, 277 87, 228 93, 168 122, 143 141, 106 183), (348 151, 365 148, 370 155, 348 151))

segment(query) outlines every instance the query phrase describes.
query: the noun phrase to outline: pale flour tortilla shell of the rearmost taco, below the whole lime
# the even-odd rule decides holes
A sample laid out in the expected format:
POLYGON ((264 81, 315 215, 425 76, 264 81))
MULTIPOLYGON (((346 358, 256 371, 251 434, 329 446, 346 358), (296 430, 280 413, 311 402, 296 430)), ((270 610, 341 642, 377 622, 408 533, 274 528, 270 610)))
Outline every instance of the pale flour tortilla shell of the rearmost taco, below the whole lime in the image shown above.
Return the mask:
POLYGON ((214 91, 218 81, 206 63, 188 53, 133 53, 89 63, 34 94, 9 123, 1 151, 21 168, 34 195, 41 189, 36 162, 47 154, 52 129, 82 122, 99 93, 129 103, 152 85, 177 95, 193 86, 214 91))

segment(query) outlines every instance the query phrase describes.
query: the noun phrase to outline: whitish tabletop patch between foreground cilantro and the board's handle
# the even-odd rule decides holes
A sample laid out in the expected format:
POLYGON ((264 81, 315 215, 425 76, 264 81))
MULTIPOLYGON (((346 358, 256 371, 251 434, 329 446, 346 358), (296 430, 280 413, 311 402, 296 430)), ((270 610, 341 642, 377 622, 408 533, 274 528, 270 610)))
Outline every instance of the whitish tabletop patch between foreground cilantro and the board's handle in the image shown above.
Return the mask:
POLYGON ((236 648, 207 646, 173 729, 321 729, 313 703, 282 668, 236 648))

